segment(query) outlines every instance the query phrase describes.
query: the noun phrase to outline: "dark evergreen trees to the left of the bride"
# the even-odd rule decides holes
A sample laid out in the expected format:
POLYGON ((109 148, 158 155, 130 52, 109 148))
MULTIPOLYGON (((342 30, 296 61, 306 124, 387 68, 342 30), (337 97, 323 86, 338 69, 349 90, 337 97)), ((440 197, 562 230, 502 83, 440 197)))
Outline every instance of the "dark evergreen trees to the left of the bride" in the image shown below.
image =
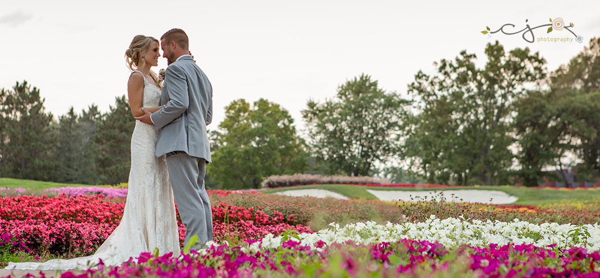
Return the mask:
POLYGON ((125 96, 110 111, 73 107, 54 119, 26 81, 0 89, 0 177, 58 183, 127 182, 135 121, 125 96))

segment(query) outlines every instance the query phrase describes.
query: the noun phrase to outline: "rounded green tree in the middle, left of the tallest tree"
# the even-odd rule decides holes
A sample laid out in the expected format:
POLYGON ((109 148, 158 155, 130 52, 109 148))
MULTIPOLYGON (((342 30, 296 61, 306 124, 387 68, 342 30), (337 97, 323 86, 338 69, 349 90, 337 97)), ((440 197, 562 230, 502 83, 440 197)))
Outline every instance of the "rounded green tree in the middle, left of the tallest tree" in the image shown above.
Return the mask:
POLYGON ((328 174, 372 175, 375 163, 398 150, 409 101, 386 93, 365 74, 340 85, 337 92, 325 103, 309 100, 302 110, 310 148, 328 174))

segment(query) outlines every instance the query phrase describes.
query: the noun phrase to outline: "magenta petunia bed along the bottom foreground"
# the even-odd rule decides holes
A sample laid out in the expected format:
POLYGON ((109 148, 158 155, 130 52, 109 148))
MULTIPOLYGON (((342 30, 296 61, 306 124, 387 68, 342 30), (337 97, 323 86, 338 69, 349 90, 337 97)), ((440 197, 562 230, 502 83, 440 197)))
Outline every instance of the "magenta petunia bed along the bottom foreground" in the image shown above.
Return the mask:
MULTIPOLYGON (((439 243, 399 240, 344 244, 266 237, 243 246, 213 245, 173 258, 142 253, 120 267, 88 270, 83 277, 598 277, 598 252, 528 244, 446 249, 439 243), (248 246, 256 245, 256 249, 248 246)), ((63 277, 73 277, 71 273, 63 277)))

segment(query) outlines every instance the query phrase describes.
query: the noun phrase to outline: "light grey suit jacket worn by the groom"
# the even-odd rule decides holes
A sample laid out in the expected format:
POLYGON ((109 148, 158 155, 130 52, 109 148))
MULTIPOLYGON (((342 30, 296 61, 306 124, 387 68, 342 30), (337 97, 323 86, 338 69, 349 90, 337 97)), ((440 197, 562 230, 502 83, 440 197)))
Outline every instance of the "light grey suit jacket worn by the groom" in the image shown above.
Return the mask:
POLYGON ((156 156, 185 151, 211 162, 206 125, 212 121, 212 85, 191 56, 167 67, 160 104, 150 118, 158 127, 156 156), (167 101, 169 101, 167 103, 167 101))

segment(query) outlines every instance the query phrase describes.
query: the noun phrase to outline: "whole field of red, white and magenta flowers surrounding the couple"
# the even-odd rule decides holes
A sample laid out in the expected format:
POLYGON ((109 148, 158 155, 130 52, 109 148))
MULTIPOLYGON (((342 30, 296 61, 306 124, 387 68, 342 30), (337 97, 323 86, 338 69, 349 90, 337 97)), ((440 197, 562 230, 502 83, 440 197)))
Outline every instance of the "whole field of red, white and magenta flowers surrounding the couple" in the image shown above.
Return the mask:
MULTIPOLYGON (((39 259, 94 253, 118 225, 127 191, 20 193, 0 198, 0 253, 39 259)), ((62 277, 600 277, 596 200, 533 207, 209 194, 208 249, 142 253, 62 277)), ((183 241, 181 222, 179 231, 183 241)))

